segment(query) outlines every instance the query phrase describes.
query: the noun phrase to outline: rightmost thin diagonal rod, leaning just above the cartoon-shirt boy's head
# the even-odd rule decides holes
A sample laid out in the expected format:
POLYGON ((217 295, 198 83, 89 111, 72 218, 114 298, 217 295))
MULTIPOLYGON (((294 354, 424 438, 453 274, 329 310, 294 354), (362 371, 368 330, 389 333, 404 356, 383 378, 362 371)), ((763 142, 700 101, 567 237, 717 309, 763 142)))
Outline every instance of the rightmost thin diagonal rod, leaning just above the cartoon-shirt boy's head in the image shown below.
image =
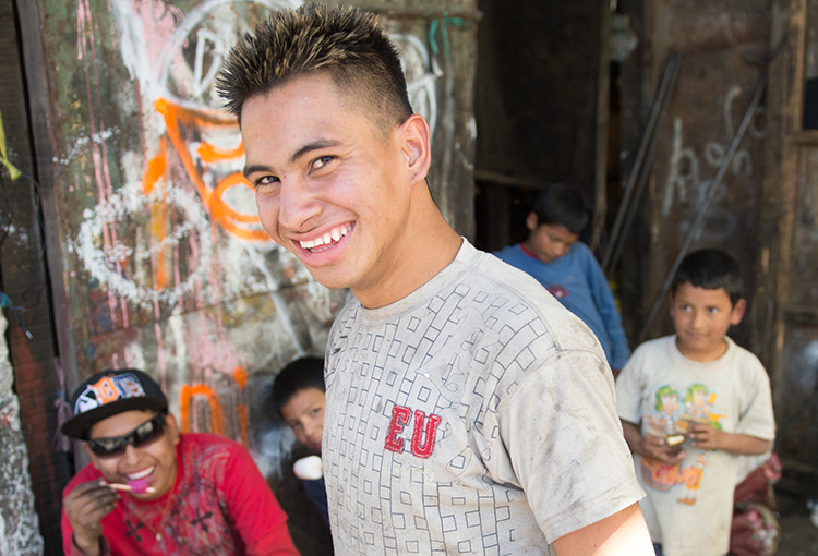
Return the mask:
POLYGON ((736 132, 732 143, 730 144, 730 148, 724 155, 724 159, 721 161, 719 171, 715 172, 715 178, 713 178, 710 188, 707 190, 707 193, 699 201, 699 204, 696 207, 696 216, 694 217, 693 225, 687 231, 685 241, 682 243, 682 249, 679 250, 678 255, 676 255, 676 261, 673 263, 671 271, 667 273, 667 277, 662 285, 662 289, 659 291, 659 295, 657 295, 657 299, 653 302, 653 306, 648 314, 648 319, 645 322, 642 330, 639 334, 639 343, 645 341, 645 336, 648 334, 648 328, 653 322, 653 318, 657 316, 659 307, 662 305, 662 300, 664 299, 667 290, 671 287, 671 282, 673 281, 673 277, 676 275, 676 270, 678 270, 678 266, 682 264, 682 259, 685 257, 685 255, 687 255, 687 250, 690 249, 690 244, 701 231, 701 226, 705 223, 705 216, 707 215, 707 210, 708 208, 710 208, 710 204, 713 202, 713 198, 715 198, 715 193, 719 190, 722 180, 724 179, 724 174, 727 172, 727 168, 730 168, 730 164, 733 161, 733 157, 735 156, 736 150, 738 150, 738 145, 742 143, 744 133, 747 131, 747 128, 753 121, 753 117, 756 114, 756 110, 758 109, 758 105, 761 102, 761 96, 763 95, 766 85, 767 76, 763 76, 761 77, 761 81, 756 88, 756 94, 753 97, 753 101, 750 102, 749 108, 747 108, 747 113, 744 114, 744 120, 742 120, 742 124, 738 126, 738 131, 736 132))

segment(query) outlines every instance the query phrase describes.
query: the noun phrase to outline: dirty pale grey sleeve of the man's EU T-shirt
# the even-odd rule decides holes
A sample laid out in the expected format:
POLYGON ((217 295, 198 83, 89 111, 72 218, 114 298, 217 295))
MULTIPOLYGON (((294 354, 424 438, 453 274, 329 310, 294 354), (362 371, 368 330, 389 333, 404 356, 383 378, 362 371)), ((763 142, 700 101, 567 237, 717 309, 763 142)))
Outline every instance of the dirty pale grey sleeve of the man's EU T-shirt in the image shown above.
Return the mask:
POLYGON ((549 543, 643 496, 612 382, 601 352, 562 351, 502 409, 503 443, 549 543))

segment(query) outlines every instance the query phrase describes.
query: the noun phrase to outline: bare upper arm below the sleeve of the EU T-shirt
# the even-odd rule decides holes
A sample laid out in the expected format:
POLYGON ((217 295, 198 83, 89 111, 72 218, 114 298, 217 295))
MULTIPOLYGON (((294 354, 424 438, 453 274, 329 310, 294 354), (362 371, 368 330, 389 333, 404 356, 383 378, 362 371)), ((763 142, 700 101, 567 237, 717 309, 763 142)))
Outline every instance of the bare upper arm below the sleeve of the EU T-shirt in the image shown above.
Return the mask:
POLYGON ((558 556, 653 556, 639 504, 554 541, 558 556))

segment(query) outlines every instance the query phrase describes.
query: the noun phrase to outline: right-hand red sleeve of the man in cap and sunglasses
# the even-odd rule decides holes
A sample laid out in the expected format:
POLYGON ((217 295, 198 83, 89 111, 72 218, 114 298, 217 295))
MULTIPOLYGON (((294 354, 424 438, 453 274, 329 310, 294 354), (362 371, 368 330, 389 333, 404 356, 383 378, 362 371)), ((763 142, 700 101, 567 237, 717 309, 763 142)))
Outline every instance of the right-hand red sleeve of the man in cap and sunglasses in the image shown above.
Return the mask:
POLYGON ((248 556, 298 556, 287 530, 287 515, 243 446, 237 446, 222 485, 230 518, 248 556))

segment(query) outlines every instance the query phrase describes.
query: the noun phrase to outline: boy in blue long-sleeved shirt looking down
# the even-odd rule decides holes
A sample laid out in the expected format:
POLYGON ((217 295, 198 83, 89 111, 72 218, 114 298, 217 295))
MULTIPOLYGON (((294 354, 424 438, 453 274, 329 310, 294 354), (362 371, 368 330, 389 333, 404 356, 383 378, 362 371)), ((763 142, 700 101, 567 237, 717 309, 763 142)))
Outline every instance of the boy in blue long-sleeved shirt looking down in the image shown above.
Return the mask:
POLYGON ((622 317, 591 250, 577 241, 588 225, 582 195, 551 183, 526 218, 528 240, 495 253, 534 277, 599 339, 614 376, 630 356, 622 317))

